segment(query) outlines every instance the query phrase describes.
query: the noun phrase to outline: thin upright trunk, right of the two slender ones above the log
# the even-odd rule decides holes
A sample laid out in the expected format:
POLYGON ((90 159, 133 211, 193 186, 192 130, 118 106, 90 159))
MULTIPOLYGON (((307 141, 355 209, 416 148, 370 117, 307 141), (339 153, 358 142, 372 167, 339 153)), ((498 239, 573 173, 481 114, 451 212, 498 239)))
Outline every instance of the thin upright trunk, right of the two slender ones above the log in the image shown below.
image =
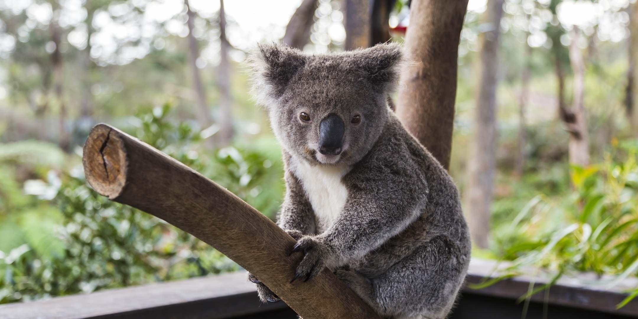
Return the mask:
POLYGON ((230 43, 226 38, 226 14, 224 10, 224 0, 219 0, 219 66, 218 66, 218 87, 219 87, 219 131, 216 142, 218 147, 230 144, 233 138, 233 114, 232 95, 230 93, 230 63, 228 62, 228 51, 230 43))

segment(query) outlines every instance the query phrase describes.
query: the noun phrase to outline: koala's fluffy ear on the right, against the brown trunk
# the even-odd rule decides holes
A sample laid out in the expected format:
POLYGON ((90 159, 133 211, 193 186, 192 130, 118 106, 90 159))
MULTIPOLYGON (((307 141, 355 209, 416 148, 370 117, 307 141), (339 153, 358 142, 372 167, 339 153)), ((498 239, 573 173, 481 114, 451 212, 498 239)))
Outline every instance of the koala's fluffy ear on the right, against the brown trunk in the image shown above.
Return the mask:
POLYGON ((357 52, 360 67, 369 80, 380 87, 391 90, 399 80, 403 50, 396 43, 382 43, 357 52))

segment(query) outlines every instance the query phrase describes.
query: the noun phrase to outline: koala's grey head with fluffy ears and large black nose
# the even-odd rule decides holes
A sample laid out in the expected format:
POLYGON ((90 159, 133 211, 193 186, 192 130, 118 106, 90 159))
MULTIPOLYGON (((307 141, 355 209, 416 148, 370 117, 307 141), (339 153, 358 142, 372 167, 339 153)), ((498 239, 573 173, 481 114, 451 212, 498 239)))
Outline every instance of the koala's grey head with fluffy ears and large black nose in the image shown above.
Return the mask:
POLYGON ((293 156, 311 164, 359 161, 389 117, 401 48, 381 44, 337 54, 304 54, 274 43, 251 54, 253 94, 293 156))

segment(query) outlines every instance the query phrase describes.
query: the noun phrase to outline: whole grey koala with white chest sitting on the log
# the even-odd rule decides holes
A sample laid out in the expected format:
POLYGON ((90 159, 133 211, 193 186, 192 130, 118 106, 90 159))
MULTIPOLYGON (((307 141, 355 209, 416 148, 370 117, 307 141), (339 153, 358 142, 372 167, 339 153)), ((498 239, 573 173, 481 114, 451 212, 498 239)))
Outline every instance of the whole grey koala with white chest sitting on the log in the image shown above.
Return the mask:
MULTIPOLYGON (((401 47, 249 57, 253 95, 283 148, 278 225, 302 253, 292 281, 323 269, 386 318, 445 318, 470 262, 456 185, 389 107, 401 47)), ((279 297, 255 276, 263 302, 279 297)), ((291 281, 291 283, 292 283, 291 281)))

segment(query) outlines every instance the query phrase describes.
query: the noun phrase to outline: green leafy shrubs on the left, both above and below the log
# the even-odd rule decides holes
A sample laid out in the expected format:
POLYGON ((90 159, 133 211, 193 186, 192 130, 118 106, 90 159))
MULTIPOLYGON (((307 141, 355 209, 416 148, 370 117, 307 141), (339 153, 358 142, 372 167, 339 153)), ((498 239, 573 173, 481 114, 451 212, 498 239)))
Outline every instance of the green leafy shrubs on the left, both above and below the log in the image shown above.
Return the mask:
MULTIPOLYGON (((249 146, 207 151, 201 133, 188 122, 171 121, 171 110, 169 103, 145 108, 128 131, 274 216, 283 191, 279 153, 249 146)), ((16 148, 0 147, 0 154, 16 148)), ((24 191, 37 197, 24 195, 15 178, 0 183, 0 189, 11 190, 2 194, 12 194, 9 200, 1 197, 12 211, 0 219, 0 229, 12 231, 0 237, 0 242, 11 240, 0 246, 5 251, 0 251, 0 303, 239 268, 165 221, 98 195, 87 186, 81 167, 41 171, 46 182, 24 182, 24 191)), ((0 169, 0 174, 11 177, 11 170, 0 169)))

